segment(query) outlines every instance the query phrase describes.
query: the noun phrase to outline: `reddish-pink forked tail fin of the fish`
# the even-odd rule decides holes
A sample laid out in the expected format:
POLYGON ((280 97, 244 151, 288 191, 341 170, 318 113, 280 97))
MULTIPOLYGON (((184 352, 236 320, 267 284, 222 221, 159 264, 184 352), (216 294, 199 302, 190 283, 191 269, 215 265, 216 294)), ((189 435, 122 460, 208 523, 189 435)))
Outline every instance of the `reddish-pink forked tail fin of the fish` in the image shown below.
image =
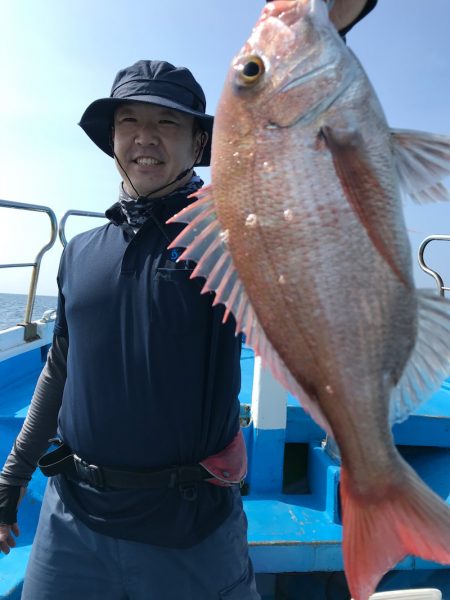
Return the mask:
POLYGON ((354 600, 367 600, 408 554, 450 564, 450 506, 403 459, 399 466, 395 483, 373 498, 358 497, 342 467, 344 566, 354 600))

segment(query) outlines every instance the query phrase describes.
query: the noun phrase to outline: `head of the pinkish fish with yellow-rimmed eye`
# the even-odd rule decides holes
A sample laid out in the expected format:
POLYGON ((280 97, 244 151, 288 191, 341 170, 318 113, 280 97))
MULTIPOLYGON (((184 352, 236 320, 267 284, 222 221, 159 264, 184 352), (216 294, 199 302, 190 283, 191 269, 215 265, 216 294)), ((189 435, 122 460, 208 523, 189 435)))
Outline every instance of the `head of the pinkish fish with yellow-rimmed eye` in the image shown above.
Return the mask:
MULTIPOLYGON (((277 0, 264 8, 232 62, 215 135, 233 144, 255 129, 310 121, 351 79, 354 60, 323 0, 277 0)), ((220 141, 217 140, 219 143, 220 141)))

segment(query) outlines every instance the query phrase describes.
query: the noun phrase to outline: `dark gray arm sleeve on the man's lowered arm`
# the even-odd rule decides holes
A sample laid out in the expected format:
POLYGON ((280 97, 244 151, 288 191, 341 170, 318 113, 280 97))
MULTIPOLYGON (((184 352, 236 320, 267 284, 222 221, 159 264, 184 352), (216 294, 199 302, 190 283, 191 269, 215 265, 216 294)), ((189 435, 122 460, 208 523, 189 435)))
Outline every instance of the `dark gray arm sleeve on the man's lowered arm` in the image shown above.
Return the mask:
POLYGON ((55 436, 66 382, 67 351, 67 339, 54 336, 27 417, 0 473, 0 483, 28 485, 38 458, 55 436))

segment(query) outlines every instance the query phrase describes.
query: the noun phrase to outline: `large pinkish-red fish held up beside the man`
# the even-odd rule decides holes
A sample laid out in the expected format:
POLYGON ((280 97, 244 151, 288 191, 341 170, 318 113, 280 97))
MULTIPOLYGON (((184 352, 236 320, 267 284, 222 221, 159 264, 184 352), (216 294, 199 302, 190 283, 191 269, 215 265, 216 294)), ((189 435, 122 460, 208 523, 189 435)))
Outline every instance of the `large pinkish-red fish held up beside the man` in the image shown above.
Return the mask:
POLYGON ((412 554, 450 564, 450 506, 392 425, 450 373, 448 299, 415 288, 403 201, 449 201, 450 137, 389 127, 322 0, 275 0, 235 56, 211 185, 170 222, 203 292, 336 441, 355 600, 412 554))

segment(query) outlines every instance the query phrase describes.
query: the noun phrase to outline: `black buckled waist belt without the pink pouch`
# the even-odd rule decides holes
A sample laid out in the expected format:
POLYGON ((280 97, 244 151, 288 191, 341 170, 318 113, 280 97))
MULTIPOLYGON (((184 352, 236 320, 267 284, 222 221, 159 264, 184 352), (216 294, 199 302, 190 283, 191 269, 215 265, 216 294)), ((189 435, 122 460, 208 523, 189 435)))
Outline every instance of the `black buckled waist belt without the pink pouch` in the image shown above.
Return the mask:
POLYGON ((91 465, 65 444, 41 456, 38 467, 46 477, 64 474, 70 479, 84 481, 97 488, 183 488, 188 484, 213 478, 201 465, 170 467, 160 471, 125 471, 91 465))

